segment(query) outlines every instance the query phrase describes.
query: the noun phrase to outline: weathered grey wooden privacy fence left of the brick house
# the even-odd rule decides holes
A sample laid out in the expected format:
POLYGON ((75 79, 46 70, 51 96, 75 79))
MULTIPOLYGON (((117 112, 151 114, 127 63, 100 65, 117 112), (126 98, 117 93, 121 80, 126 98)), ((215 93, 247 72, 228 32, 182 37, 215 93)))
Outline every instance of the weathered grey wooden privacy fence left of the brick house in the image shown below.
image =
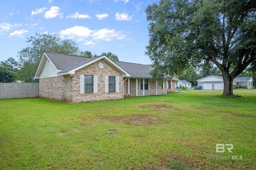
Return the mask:
POLYGON ((39 96, 39 83, 0 83, 0 99, 39 96))

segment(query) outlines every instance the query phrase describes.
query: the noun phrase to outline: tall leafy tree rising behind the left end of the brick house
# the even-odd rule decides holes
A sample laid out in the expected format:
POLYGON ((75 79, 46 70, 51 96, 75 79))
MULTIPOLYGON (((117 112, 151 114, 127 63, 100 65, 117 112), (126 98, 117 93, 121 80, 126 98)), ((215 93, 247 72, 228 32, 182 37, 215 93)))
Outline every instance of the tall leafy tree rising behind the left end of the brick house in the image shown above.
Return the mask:
POLYGON ((18 79, 25 79, 30 82, 30 76, 36 73, 40 59, 44 52, 63 53, 69 55, 79 55, 81 51, 78 44, 70 39, 62 40, 60 36, 54 34, 35 34, 27 38, 30 45, 18 52, 20 70, 18 79))

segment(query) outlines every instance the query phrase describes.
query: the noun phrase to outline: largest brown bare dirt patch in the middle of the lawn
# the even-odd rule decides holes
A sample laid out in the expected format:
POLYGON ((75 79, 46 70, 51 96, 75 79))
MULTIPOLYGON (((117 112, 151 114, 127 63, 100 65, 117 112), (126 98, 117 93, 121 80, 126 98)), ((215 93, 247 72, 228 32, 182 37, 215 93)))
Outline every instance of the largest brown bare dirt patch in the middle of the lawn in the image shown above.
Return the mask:
POLYGON ((97 116, 98 119, 105 119, 114 123, 125 123, 134 126, 160 125, 166 123, 160 118, 152 117, 152 115, 127 115, 118 117, 97 116))

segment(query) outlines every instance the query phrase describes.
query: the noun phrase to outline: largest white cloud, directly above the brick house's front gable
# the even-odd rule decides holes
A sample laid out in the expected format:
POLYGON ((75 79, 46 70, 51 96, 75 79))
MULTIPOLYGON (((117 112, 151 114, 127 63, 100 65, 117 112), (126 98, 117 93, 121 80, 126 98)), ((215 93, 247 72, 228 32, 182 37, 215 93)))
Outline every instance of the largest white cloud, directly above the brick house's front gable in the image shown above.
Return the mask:
POLYGON ((84 41, 85 45, 94 46, 95 41, 111 41, 122 40, 126 37, 122 31, 116 31, 115 29, 103 28, 100 30, 90 30, 84 26, 74 26, 66 30, 61 30, 60 35, 67 38, 76 38, 78 41, 84 41))

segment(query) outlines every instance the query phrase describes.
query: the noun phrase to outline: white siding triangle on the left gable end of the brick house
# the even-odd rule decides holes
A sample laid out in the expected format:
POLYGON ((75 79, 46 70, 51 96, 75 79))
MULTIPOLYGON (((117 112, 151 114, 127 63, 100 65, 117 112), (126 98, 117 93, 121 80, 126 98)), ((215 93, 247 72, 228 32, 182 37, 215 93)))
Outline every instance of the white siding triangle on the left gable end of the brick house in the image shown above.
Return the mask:
POLYGON ((49 61, 49 59, 46 59, 46 61, 44 63, 44 67, 39 76, 39 79, 47 78, 47 77, 57 77, 57 76, 59 76, 59 75, 57 75, 58 72, 59 71, 56 70, 56 68, 54 67, 54 65, 52 65, 52 63, 49 61))

